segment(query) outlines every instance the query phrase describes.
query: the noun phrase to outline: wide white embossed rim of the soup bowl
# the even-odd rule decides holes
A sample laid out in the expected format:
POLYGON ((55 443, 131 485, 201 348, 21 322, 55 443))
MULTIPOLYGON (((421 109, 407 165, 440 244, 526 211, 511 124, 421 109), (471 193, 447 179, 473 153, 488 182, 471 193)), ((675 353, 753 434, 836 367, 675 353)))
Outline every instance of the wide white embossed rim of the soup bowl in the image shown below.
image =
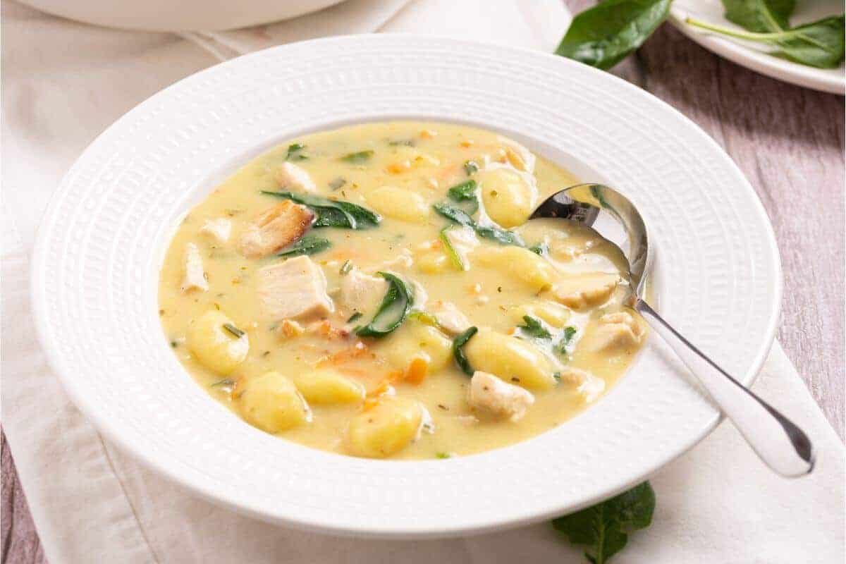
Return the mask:
POLYGON ((562 57, 418 36, 306 41, 240 57, 140 104, 80 156, 41 225, 36 326, 70 397, 110 441, 207 499, 335 534, 446 536, 532 523, 644 479, 704 437, 717 410, 651 339, 579 417, 470 457, 373 461, 266 435, 182 369, 157 315, 180 214, 251 156, 344 123, 431 118, 498 129, 639 202, 656 301, 750 383, 782 283, 750 184, 694 123, 562 57))

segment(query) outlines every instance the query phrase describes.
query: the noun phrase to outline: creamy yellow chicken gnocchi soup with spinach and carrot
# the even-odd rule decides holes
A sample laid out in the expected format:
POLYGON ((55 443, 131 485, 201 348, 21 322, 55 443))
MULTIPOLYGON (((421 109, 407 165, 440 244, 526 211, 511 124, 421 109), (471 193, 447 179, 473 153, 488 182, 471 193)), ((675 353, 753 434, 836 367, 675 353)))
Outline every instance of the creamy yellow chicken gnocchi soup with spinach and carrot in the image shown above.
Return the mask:
POLYGON ((644 341, 618 249, 527 222, 574 183, 454 124, 303 135, 184 218, 162 327, 212 397, 291 441, 380 458, 523 441, 596 402, 644 341))

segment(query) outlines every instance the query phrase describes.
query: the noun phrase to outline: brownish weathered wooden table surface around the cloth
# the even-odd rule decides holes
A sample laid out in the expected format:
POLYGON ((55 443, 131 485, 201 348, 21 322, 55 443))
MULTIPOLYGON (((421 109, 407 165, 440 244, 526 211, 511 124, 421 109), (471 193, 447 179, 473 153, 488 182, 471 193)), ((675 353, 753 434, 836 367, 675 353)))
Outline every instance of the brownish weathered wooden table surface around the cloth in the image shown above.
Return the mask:
MULTIPOLYGON (((569 0, 577 12, 591 2, 569 0)), ((755 187, 784 269, 782 343, 843 439, 843 97, 739 67, 664 25, 613 71, 717 140, 755 187)), ((46 562, 2 444, 3 564, 46 562)))

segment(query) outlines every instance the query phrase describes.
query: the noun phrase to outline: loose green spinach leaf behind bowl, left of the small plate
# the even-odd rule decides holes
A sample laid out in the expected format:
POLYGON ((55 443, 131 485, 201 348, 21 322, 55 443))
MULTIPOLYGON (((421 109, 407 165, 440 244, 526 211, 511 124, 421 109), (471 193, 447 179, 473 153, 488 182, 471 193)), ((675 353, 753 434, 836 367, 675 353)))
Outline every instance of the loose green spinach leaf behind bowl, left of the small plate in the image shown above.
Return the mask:
POLYGON ((578 14, 558 55, 608 69, 643 45, 667 19, 671 0, 605 0, 578 14))

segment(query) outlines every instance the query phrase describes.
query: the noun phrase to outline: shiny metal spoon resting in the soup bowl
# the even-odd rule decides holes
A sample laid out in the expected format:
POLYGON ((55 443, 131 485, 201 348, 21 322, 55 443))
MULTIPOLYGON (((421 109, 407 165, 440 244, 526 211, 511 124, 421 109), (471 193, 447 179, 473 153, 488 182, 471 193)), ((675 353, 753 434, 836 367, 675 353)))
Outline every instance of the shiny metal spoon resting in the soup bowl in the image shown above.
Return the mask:
POLYGON ((577 184, 552 194, 530 219, 541 217, 582 223, 617 245, 629 260, 631 307, 699 378, 758 456, 786 477, 802 476, 814 468, 814 447, 799 427, 734 380, 646 304, 644 288, 651 265, 648 235, 640 213, 623 194, 602 184, 577 184))

